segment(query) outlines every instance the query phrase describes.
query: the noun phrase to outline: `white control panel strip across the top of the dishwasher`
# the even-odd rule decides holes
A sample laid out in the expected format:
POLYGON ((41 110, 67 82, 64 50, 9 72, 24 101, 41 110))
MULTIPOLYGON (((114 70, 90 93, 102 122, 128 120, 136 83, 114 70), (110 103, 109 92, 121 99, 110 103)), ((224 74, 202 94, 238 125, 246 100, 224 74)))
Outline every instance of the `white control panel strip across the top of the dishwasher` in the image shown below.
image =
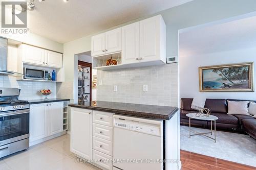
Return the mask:
POLYGON ((141 133, 151 134, 160 136, 161 135, 161 127, 158 125, 141 123, 132 120, 124 120, 124 119, 115 119, 114 127, 137 131, 141 133))

